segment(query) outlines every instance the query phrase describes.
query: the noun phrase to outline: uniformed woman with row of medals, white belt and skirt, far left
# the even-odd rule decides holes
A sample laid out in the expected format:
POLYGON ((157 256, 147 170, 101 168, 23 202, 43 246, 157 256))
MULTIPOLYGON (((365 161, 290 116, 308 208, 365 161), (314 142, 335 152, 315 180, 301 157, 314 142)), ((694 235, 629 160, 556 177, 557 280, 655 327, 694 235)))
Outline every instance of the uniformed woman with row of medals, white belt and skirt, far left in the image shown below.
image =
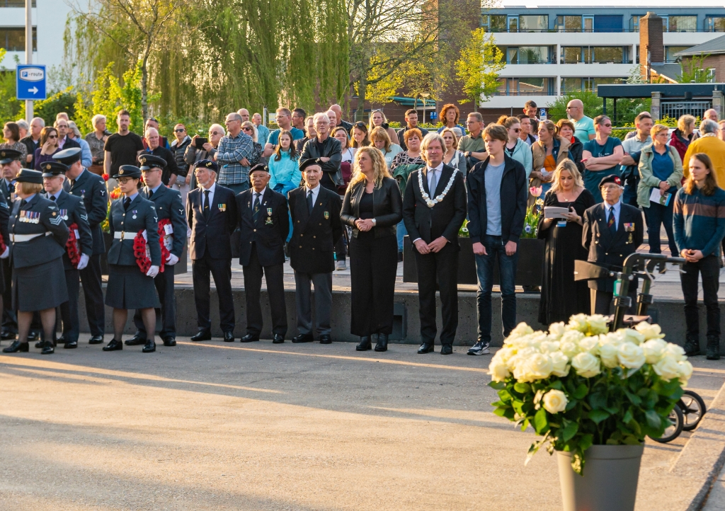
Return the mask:
POLYGON ((9 241, 12 265, 12 308, 17 310, 17 341, 5 353, 27 352, 33 312, 40 312, 45 343, 42 354, 51 354, 55 308, 68 301, 63 254, 68 228, 57 205, 41 195, 43 175, 21 169, 16 200, 10 215, 9 241))

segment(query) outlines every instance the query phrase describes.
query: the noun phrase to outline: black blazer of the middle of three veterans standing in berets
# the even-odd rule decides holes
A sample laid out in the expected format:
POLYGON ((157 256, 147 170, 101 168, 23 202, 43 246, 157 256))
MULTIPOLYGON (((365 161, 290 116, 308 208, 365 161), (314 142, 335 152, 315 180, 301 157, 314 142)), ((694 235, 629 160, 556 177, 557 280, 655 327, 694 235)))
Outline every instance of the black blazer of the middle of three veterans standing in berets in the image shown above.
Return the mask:
POLYGON ((262 195, 262 206, 255 215, 252 211, 252 194, 254 188, 249 188, 236 196, 239 211, 239 264, 249 265, 252 244, 256 241, 254 246, 262 266, 283 265, 284 242, 289 234, 287 199, 267 187, 262 195))

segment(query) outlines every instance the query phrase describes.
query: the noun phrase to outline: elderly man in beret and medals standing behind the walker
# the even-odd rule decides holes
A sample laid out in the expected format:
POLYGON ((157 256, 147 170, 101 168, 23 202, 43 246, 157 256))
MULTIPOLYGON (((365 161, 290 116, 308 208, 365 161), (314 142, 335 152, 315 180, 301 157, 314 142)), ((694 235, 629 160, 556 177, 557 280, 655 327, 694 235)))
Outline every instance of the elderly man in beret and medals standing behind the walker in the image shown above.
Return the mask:
MULTIPOLYGON (((642 213, 638 208, 623 204, 619 198, 624 191, 617 175, 608 175, 599 183, 602 199, 584 212, 581 243, 589 251, 587 261, 621 270, 624 259, 637 252, 644 238, 642 213)), ((592 296, 592 314, 609 315, 614 296, 613 278, 600 278, 589 281, 589 293, 592 296)), ((631 307, 628 314, 634 314, 637 308, 637 279, 629 284, 631 307)))

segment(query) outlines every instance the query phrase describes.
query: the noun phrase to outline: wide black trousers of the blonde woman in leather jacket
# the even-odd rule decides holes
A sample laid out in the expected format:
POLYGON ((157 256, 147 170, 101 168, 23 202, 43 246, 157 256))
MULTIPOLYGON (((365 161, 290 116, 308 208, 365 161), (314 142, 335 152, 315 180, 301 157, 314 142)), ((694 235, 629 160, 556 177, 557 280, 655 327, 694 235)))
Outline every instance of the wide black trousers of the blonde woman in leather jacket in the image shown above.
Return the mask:
POLYGON ((398 242, 395 236, 350 238, 350 333, 370 336, 393 331, 398 242))

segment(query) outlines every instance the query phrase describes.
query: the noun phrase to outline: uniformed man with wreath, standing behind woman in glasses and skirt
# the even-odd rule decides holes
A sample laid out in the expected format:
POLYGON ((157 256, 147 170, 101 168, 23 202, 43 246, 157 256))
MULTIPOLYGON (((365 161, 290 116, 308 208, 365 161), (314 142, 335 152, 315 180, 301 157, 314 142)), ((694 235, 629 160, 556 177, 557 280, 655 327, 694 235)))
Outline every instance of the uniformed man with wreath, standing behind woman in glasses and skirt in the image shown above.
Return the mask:
MULTIPOLYGON (((164 346, 176 346, 176 301, 174 296, 174 265, 178 262, 186 244, 186 215, 181 204, 181 194, 162 183, 162 174, 166 161, 153 154, 141 153, 138 156, 141 164, 141 175, 144 176, 144 187, 138 191, 144 199, 156 206, 159 219, 159 238, 165 246, 163 253, 164 271, 154 278, 154 285, 159 293, 161 309, 161 331, 159 336, 164 346)), ((161 241, 159 241, 161 242, 161 241)), ((133 315, 136 335, 125 341, 127 346, 146 344, 146 327, 141 318, 141 311, 136 309, 133 315)))

